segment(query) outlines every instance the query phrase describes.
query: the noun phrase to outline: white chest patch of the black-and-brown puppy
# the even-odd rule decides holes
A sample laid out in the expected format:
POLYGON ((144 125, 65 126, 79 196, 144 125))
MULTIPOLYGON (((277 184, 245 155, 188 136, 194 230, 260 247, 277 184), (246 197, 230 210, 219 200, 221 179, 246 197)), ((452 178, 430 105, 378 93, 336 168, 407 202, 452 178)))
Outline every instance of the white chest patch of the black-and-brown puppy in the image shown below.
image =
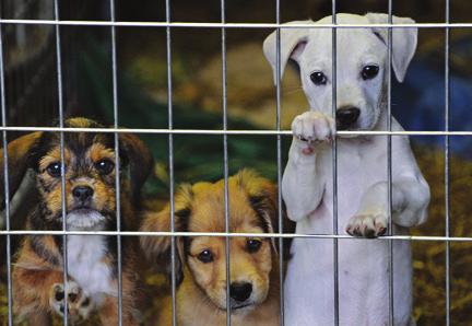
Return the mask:
POLYGON ((68 273, 91 295, 101 303, 104 294, 115 295, 111 286, 110 267, 104 263, 106 240, 102 235, 68 236, 68 273))

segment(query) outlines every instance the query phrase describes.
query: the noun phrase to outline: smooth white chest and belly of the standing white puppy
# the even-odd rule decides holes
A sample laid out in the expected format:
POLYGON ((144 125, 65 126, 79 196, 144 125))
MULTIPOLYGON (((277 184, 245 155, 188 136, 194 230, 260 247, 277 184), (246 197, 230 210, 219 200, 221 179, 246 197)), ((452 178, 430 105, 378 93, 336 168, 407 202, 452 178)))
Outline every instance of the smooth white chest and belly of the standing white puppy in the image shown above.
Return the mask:
MULTIPOLYGON (((366 189, 388 178, 385 137, 378 137, 369 143, 349 145, 349 142, 354 141, 356 140, 341 139, 338 142, 338 234, 345 234, 346 223, 356 213, 366 189)), ((397 145, 392 144, 393 150, 397 145)), ((393 167, 398 166, 397 160, 397 156, 392 155, 393 167)), ((322 182, 326 184, 323 195, 319 207, 308 218, 297 221, 297 233, 333 233, 334 189, 331 151, 320 153, 317 164, 317 173, 323 177, 322 182)), ((393 176, 392 182, 394 181, 393 176)), ((386 202, 387 199, 379 198, 386 202)), ((318 326, 333 323, 333 248, 332 240, 294 240, 291 249, 293 257, 288 264, 284 286, 287 298, 286 324, 318 326)), ((405 319, 411 310, 410 244, 394 242, 393 253, 396 318, 405 319)), ((388 325, 385 324, 385 321, 388 322, 389 304, 388 257, 389 246, 386 241, 339 241, 340 324, 388 325), (376 313, 369 315, 365 314, 365 311, 376 313)))

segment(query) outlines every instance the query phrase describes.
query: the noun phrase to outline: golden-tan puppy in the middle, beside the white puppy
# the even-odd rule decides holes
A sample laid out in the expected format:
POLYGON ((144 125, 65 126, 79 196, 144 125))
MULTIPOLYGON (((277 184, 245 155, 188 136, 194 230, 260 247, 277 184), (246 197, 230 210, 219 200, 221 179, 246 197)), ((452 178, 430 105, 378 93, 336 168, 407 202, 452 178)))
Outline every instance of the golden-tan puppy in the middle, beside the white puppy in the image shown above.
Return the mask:
MULTIPOLYGON (((228 179, 229 230, 272 233, 276 187, 253 172, 228 179)), ((169 231, 169 208, 146 217, 143 231, 169 231)), ((176 231, 224 232, 224 181, 184 186, 175 196, 176 231)), ((226 323, 225 237, 178 237, 177 321, 182 326, 226 323)), ((141 245, 152 261, 169 254, 170 237, 145 236, 141 245)), ((232 325, 279 325, 279 258, 268 237, 231 237, 232 325)), ((164 300, 156 325, 172 325, 172 298, 164 300)))

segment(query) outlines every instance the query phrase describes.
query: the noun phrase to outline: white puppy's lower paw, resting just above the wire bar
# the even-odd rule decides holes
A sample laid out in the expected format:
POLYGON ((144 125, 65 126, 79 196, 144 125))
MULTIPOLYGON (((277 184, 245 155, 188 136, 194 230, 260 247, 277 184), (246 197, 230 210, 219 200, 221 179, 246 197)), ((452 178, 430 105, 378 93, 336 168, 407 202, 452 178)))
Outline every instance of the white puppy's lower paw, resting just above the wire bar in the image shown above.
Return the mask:
POLYGON ((387 232, 388 218, 385 213, 365 213, 352 217, 345 231, 353 236, 377 237, 387 232))

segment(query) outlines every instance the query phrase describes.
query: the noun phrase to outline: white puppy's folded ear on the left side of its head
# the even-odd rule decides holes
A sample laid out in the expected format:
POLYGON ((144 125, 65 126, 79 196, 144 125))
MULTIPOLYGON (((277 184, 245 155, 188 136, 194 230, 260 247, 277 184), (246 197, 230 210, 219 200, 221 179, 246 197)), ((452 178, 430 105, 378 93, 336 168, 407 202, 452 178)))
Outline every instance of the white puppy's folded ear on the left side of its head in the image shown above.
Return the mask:
MULTIPOLYGON (((285 25, 291 24, 310 24, 312 21, 295 21, 290 22, 285 25)), ((295 61, 298 60, 299 56, 305 49, 308 39, 308 28, 281 28, 280 32, 280 77, 285 70, 285 66, 290 58, 295 61)), ((263 53, 269 63, 272 67, 273 80, 276 84, 276 31, 269 35, 263 43, 263 53)))

